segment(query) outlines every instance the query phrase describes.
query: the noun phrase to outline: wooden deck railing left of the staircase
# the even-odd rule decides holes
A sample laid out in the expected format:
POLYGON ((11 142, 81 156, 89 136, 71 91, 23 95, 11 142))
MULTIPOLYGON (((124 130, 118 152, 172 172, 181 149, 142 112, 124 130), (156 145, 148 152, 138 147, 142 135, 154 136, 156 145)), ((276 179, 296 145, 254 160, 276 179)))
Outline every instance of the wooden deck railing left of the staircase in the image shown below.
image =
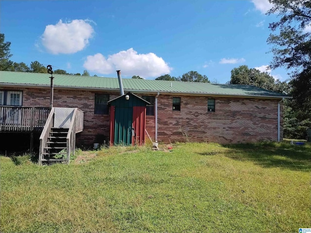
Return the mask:
POLYGON ((0 106, 0 131, 41 131, 49 112, 46 107, 0 106))

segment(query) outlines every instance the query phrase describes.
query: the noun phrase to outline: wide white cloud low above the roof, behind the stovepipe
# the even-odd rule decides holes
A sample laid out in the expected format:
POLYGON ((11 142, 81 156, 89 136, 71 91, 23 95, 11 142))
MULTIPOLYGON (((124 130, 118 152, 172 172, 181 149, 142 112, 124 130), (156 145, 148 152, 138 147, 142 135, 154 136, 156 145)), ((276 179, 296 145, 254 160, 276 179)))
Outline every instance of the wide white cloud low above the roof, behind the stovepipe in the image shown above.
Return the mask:
POLYGON ((158 77, 171 72, 172 67, 155 53, 138 54, 133 48, 108 55, 97 53, 86 57, 83 65, 87 70, 110 74, 121 69, 124 76, 158 77))

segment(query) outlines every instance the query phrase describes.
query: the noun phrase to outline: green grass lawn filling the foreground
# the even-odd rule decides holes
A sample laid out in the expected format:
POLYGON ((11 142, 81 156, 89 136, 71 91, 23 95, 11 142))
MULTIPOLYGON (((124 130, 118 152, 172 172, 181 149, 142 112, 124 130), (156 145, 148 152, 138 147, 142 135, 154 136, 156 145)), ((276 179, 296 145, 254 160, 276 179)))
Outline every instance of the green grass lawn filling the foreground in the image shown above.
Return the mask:
POLYGON ((0 232, 311 228, 310 143, 188 143, 174 144, 171 151, 95 152, 94 158, 69 166, 0 156, 0 232))

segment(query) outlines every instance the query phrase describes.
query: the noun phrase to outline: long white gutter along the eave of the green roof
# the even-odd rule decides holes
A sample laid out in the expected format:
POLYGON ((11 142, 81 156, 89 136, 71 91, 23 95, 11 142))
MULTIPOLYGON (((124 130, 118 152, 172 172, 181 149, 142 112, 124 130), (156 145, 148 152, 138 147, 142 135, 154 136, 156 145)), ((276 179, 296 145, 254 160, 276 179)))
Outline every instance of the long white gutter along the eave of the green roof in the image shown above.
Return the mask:
MULTIPOLYGON (((48 84, 21 84, 21 83, 1 83, 1 86, 22 86, 22 87, 42 87, 49 88, 48 84)), ((106 90, 106 91, 118 91, 119 88, 102 88, 102 87, 81 87, 81 86, 61 86, 55 85, 54 88, 60 89, 84 89, 84 90, 106 90)), ((291 96, 266 96, 266 95, 236 95, 236 94, 218 94, 218 93, 202 93, 202 92, 173 92, 173 91, 156 91, 156 90, 134 90, 134 89, 125 89, 126 92, 135 92, 135 93, 161 93, 161 94, 174 94, 174 95, 195 95, 195 96, 220 96, 220 97, 237 97, 237 98, 261 98, 261 99, 292 99, 291 96)))

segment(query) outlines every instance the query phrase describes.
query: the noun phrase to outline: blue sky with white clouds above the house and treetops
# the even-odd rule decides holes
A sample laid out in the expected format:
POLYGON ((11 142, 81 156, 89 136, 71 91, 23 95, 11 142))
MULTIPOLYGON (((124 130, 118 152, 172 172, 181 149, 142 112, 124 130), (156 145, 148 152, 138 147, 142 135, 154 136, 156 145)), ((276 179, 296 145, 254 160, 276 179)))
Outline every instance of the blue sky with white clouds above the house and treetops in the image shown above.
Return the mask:
POLYGON ((145 79, 196 70, 225 83, 234 67, 264 71, 272 60, 269 8, 267 0, 1 0, 0 32, 11 60, 27 65, 145 79))

